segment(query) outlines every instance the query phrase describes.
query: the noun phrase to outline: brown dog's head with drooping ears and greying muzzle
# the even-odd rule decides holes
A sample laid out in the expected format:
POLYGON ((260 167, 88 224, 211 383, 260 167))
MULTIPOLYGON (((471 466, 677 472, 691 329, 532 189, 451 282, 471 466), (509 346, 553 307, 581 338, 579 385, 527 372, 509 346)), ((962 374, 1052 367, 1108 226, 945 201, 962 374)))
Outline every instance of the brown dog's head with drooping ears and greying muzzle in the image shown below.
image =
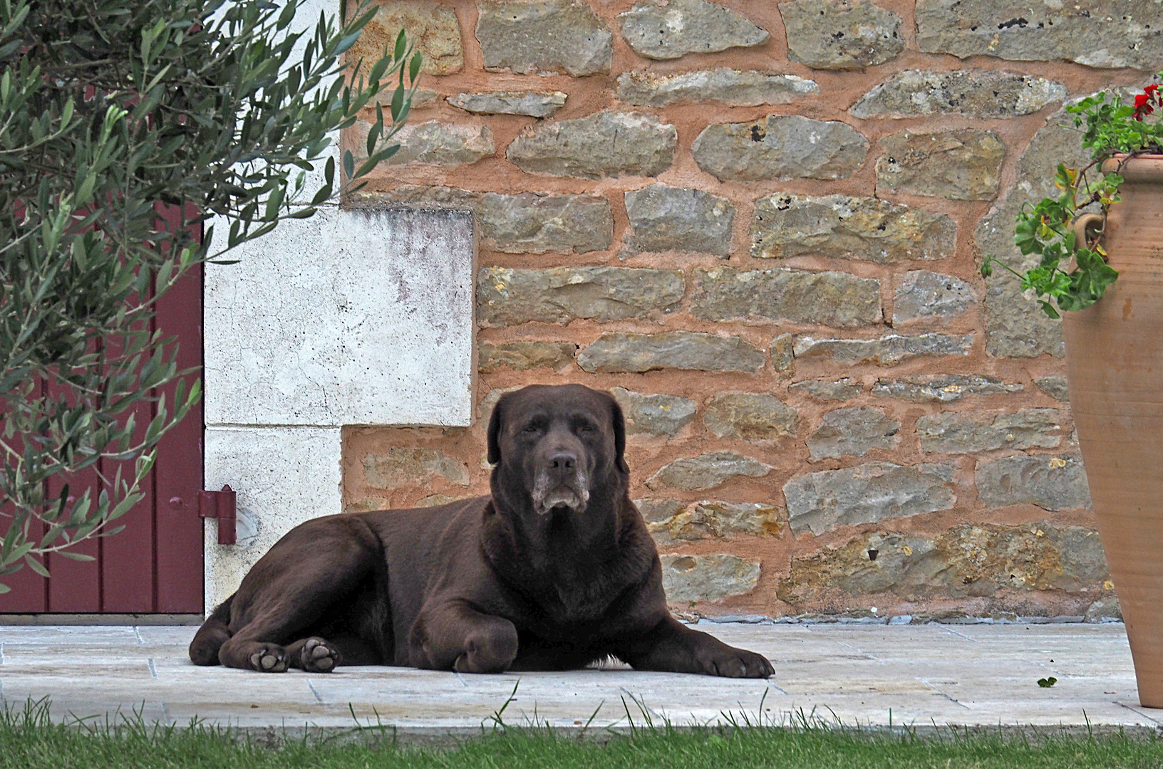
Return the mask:
POLYGON ((609 393, 531 384, 501 396, 488 421, 493 496, 537 516, 582 513, 625 494, 626 423, 609 393))

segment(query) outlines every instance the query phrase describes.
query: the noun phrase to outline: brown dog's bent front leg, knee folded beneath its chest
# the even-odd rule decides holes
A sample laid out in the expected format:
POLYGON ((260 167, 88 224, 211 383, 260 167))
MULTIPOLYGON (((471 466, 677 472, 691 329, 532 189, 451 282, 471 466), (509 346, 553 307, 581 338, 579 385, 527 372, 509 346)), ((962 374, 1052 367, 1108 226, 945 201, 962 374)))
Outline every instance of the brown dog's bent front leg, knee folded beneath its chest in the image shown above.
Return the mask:
POLYGON ((458 673, 504 673, 516 657, 516 627, 459 601, 424 606, 412 626, 412 663, 458 673))

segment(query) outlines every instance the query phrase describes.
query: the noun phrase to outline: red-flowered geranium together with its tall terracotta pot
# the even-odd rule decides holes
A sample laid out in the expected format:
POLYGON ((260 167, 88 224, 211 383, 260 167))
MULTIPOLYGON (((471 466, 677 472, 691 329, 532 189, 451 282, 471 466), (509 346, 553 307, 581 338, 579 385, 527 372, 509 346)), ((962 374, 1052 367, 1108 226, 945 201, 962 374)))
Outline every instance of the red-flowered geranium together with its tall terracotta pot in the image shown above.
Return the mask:
MULTIPOLYGON (((1163 125, 1147 120, 1158 88, 1068 107, 1093 160, 1059 164, 1061 194, 1023 209, 1014 236, 1041 257, 1022 287, 1051 317, 1069 310, 1070 405, 1147 707, 1163 707, 1163 125)), ((994 264, 1006 267, 986 259, 982 273, 994 264)))

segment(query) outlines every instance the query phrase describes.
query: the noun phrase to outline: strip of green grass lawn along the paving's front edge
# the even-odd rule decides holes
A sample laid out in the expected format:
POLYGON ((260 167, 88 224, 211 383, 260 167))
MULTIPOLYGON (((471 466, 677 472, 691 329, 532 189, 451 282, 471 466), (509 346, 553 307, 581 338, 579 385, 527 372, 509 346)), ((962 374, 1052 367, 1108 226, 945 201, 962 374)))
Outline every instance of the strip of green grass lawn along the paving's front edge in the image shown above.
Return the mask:
POLYGON ((55 725, 47 705, 0 712, 0 769, 74 767, 309 767, 373 769, 442 767, 490 769, 619 767, 644 769, 1073 769, 1163 767, 1163 740, 1128 736, 1004 736, 915 733, 857 733, 800 726, 671 731, 648 726, 628 736, 578 741, 545 728, 488 731, 455 749, 395 747, 383 740, 305 738, 279 747, 249 742, 205 726, 149 726, 140 719, 117 724, 55 725))

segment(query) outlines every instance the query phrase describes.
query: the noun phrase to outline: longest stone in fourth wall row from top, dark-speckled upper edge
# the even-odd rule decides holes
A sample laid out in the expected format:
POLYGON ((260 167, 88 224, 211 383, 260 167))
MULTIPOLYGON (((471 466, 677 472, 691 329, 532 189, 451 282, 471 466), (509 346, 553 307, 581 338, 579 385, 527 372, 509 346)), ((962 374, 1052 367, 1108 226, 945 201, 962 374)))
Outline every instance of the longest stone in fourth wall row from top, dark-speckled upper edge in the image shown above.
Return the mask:
POLYGON ((751 256, 827 257, 894 264, 944 259, 957 247, 957 223, 876 197, 776 193, 755 201, 751 256))

